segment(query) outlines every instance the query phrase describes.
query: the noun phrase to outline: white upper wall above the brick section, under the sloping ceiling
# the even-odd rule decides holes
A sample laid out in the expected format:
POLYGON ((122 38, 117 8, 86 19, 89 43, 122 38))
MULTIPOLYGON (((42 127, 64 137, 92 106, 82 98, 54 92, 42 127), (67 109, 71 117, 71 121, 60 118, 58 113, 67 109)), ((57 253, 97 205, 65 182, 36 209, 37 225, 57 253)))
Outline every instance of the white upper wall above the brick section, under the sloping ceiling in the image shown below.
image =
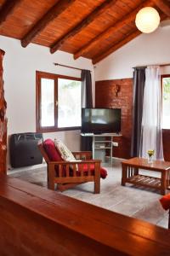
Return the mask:
MULTIPOLYGON (((170 26, 141 34, 100 61, 95 65, 95 79, 132 78, 132 67, 161 63, 170 63, 170 26)), ((162 73, 169 74, 170 67, 162 68, 162 73)))

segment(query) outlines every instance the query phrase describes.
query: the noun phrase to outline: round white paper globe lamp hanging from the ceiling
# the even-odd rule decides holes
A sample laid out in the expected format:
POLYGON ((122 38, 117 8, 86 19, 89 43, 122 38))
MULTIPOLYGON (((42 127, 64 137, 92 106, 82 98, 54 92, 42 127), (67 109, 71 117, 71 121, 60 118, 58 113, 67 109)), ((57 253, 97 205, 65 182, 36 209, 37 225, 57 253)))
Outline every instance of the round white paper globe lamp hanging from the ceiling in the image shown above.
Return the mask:
POLYGON ((135 23, 141 32, 154 32, 160 24, 160 15, 153 7, 144 7, 136 15, 135 23))

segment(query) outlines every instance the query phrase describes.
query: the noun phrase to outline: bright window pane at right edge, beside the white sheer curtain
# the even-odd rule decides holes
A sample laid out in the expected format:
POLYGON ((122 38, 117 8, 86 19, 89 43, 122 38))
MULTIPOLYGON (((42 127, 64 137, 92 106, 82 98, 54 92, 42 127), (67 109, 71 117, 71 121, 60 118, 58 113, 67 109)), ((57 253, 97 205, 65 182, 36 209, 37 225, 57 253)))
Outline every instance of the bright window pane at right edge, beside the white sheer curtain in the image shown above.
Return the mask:
POLYGON ((162 128, 170 129, 170 76, 162 80, 162 128))

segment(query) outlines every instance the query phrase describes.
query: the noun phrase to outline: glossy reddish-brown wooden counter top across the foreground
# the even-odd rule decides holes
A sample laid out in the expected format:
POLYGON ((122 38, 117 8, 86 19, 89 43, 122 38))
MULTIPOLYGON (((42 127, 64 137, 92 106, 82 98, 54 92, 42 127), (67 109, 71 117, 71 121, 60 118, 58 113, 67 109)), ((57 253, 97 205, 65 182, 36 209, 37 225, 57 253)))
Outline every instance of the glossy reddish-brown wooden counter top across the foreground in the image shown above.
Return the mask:
MULTIPOLYGON (((90 195, 91 196, 91 195, 90 195)), ((166 256, 170 232, 0 174, 0 255, 166 256)))

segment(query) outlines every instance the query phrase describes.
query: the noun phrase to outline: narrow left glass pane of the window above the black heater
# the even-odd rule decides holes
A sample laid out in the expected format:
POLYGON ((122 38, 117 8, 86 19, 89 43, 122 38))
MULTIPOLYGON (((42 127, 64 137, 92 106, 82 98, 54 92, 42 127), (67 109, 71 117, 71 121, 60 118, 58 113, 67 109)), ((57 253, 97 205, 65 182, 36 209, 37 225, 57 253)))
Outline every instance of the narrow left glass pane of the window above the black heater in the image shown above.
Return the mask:
POLYGON ((54 80, 41 79, 41 126, 54 126, 54 80))

